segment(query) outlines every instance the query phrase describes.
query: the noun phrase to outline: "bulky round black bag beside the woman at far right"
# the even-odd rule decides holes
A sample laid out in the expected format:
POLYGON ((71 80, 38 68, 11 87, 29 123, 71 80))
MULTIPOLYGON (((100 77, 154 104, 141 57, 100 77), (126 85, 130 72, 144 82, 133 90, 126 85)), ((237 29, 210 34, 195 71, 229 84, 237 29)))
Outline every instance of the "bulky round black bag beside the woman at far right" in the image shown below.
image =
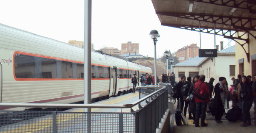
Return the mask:
POLYGON ((232 109, 227 111, 226 119, 230 122, 236 122, 239 120, 240 116, 242 114, 242 109, 239 108, 239 106, 235 106, 232 109))

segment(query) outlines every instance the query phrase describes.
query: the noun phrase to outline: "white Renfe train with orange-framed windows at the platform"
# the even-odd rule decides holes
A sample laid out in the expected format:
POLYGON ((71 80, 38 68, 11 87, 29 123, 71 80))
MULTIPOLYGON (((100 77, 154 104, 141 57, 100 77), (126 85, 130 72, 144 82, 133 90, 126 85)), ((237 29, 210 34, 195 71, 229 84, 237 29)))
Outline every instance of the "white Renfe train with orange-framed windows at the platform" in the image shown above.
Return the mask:
MULTIPOLYGON (((83 61, 83 48, 0 24, 0 103, 83 101, 83 61)), ((145 73, 151 68, 92 51, 92 101, 127 93, 133 74, 145 73)))

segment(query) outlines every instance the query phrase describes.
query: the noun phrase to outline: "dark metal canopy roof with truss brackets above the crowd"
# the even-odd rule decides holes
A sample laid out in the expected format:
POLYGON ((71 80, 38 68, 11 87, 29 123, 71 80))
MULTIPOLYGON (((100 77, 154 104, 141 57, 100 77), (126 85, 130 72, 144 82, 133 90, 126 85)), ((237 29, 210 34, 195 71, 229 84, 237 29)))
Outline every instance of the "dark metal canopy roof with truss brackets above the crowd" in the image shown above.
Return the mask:
POLYGON ((256 31, 256 0, 151 0, 161 25, 221 35, 243 47, 249 59, 256 31), (239 40, 239 42, 238 42, 239 40))

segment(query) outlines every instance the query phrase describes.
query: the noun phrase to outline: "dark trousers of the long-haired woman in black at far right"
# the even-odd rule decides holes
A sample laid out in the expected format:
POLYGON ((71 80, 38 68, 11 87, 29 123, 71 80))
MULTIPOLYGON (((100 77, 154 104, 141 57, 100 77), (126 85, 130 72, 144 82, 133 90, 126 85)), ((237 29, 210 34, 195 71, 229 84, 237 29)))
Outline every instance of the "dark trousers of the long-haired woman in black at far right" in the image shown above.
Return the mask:
POLYGON ((253 101, 242 101, 242 110, 243 110, 243 122, 246 123, 250 121, 250 108, 253 104, 253 101))

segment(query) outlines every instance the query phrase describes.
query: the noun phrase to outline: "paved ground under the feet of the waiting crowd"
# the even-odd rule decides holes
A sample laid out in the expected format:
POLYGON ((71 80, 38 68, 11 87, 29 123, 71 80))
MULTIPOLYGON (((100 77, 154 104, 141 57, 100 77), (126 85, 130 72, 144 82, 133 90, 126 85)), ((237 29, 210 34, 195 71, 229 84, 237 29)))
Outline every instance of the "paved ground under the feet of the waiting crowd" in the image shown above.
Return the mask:
MULTIPOLYGON (((227 110, 226 110, 227 112, 227 110)), ((254 110, 250 110, 251 118, 254 117, 254 110)), ((188 117, 188 116, 187 116, 188 117)), ((193 120, 189 120, 189 125, 174 125, 173 133, 256 133, 256 126, 253 120, 251 126, 241 127, 242 121, 229 122, 224 116, 222 116, 223 123, 218 124, 215 122, 215 117, 212 114, 207 113, 206 123, 207 127, 195 127, 193 120)))

